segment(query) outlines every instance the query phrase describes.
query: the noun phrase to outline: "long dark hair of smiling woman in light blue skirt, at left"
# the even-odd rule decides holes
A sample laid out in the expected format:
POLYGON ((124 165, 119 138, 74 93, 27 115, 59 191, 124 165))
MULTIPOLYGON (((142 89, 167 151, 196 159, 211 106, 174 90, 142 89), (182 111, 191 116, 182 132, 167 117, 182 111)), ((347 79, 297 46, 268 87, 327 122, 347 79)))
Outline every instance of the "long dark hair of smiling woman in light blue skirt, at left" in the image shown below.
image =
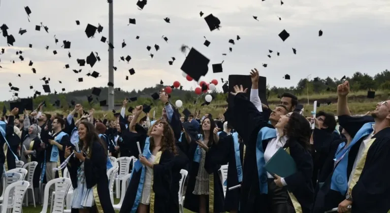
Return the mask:
MULTIPOLYGON (((86 154, 88 155, 88 157, 91 157, 93 144, 94 143, 100 143, 100 145, 105 150, 105 152, 104 152, 105 156, 104 157, 107 157, 106 146, 103 144, 102 140, 100 139, 100 137, 99 137, 98 133, 96 132, 95 127, 93 126, 93 124, 91 124, 88 121, 81 121, 80 124, 84 125, 85 128, 87 129, 87 131, 86 131, 84 140, 81 140, 79 138, 79 149, 83 150, 84 143, 86 143, 86 147, 87 147, 87 149, 89 149, 88 153, 86 153, 86 154)), ((80 126, 80 124, 79 124, 79 126, 80 126)))

